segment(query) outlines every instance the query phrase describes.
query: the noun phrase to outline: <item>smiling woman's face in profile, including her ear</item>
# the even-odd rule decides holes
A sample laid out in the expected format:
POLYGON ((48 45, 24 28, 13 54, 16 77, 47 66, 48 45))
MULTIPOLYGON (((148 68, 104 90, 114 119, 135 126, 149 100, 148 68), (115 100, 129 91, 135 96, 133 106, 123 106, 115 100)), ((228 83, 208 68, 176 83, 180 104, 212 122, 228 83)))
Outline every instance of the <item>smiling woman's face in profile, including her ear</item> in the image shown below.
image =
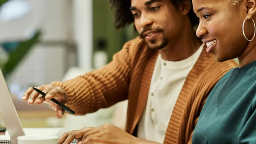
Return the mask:
MULTIPOLYGON (((242 31, 247 13, 246 0, 238 5, 223 0, 192 0, 192 3, 200 19, 196 35, 203 38, 207 52, 220 62, 239 57, 248 44, 242 31)), ((250 22, 245 22, 248 39, 251 39, 254 28, 247 25, 250 22)))

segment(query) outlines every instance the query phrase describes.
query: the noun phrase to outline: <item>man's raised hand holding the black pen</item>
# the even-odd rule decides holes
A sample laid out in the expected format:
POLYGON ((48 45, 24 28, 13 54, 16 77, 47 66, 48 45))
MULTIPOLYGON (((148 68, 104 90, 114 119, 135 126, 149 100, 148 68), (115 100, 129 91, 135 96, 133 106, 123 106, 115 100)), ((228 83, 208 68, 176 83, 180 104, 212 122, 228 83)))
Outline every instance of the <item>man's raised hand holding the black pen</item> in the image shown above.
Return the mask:
POLYGON ((62 89, 61 87, 58 87, 52 84, 46 84, 36 88, 46 93, 45 98, 42 95, 40 95, 38 92, 36 92, 32 87, 30 87, 24 92, 22 100, 23 101, 28 100, 29 105, 32 105, 34 103, 36 105, 40 105, 43 102, 47 103, 56 111, 56 117, 61 118, 64 114, 64 110, 60 108, 57 104, 52 102, 50 99, 54 98, 63 104, 67 104, 68 94, 65 92, 65 90, 62 89))

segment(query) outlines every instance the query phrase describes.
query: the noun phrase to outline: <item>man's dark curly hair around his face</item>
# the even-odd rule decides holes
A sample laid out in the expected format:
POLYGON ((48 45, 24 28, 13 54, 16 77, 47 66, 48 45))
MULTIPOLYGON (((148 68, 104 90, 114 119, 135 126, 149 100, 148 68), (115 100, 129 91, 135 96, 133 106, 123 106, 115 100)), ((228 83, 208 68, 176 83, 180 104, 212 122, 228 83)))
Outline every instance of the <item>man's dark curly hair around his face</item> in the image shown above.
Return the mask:
MULTIPOLYGON (((111 9, 114 9, 115 17, 115 28, 124 28, 126 25, 129 25, 134 22, 134 18, 130 11, 131 0, 109 0, 111 4, 111 9)), ((191 3, 191 0, 170 0, 175 7, 178 7, 179 4, 183 1, 188 1, 191 3)), ((191 25, 193 27, 197 26, 199 21, 196 17, 196 14, 193 12, 193 8, 188 13, 191 25)))

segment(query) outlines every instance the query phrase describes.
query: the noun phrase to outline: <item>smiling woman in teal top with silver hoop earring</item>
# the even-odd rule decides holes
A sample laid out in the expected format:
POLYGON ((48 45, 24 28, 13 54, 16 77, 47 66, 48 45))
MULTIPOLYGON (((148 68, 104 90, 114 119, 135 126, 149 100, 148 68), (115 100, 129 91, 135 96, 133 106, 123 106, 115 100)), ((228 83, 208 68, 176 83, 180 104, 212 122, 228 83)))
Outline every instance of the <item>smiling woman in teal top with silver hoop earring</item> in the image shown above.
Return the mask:
POLYGON ((196 35, 220 62, 238 58, 209 95, 193 144, 256 144, 256 0, 192 0, 196 35))

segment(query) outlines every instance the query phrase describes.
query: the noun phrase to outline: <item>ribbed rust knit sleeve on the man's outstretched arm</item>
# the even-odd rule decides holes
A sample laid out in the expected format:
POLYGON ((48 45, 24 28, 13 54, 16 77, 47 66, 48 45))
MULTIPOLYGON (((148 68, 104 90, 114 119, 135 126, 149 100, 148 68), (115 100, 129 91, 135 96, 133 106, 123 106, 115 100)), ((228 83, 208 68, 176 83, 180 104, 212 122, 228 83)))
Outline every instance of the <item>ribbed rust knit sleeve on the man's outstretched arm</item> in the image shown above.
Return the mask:
POLYGON ((92 113, 100 108, 126 100, 131 78, 131 41, 113 56, 113 61, 99 70, 65 82, 52 82, 68 93, 67 106, 76 115, 92 113))

